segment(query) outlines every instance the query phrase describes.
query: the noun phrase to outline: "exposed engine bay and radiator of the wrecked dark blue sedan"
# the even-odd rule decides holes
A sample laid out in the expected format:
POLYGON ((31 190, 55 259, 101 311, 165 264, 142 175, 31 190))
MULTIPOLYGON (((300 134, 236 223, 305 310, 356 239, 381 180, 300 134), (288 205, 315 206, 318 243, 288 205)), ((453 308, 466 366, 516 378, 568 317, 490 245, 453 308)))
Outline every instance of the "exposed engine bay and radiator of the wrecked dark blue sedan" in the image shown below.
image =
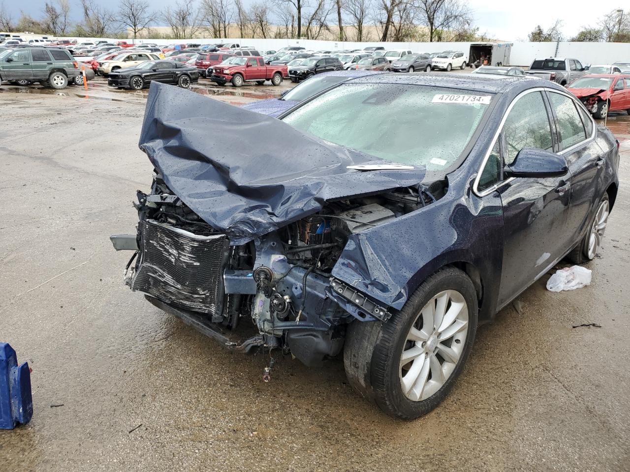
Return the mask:
POLYGON ((336 199, 317 213, 231 245, 156 171, 151 193, 137 193, 138 251, 125 281, 159 308, 221 333, 226 347, 282 348, 313 366, 341 351, 347 323, 389 317, 387 306, 331 275, 348 237, 421 210, 446 191, 446 181, 437 181, 336 199), (249 320, 255 334, 231 340, 229 334, 249 320))

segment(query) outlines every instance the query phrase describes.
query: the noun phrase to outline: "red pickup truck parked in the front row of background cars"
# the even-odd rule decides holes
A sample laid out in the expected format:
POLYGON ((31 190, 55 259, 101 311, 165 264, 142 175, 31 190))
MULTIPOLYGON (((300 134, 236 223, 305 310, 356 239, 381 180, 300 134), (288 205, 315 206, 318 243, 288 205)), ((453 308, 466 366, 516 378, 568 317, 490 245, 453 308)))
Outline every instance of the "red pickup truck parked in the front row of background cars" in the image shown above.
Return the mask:
POLYGON ((286 75, 286 65, 265 65, 262 57, 233 57, 229 64, 216 65, 210 80, 219 85, 232 82, 234 87, 241 87, 245 82, 262 85, 265 81, 271 81, 272 85, 280 85, 282 77, 286 75))

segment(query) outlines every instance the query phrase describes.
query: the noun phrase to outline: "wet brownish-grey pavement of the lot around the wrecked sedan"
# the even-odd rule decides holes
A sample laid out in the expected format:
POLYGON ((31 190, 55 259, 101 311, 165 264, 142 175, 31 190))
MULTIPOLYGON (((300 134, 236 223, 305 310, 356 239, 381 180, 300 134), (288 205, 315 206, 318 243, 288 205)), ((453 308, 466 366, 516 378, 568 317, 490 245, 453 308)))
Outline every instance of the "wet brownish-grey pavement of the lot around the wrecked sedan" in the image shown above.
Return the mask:
MULTIPOLYGON (((207 87, 229 103, 283 87, 207 87), (234 95, 233 93, 236 93, 234 95)), ((437 410, 386 417, 343 362, 231 354, 123 286, 144 93, 0 91, 0 340, 33 373, 33 420, 0 431, 0 471, 630 470, 630 116, 612 114, 621 183, 590 286, 538 281, 479 329, 437 410), (67 96, 66 96, 67 95, 67 96), (601 328, 578 327, 598 323, 601 328)))

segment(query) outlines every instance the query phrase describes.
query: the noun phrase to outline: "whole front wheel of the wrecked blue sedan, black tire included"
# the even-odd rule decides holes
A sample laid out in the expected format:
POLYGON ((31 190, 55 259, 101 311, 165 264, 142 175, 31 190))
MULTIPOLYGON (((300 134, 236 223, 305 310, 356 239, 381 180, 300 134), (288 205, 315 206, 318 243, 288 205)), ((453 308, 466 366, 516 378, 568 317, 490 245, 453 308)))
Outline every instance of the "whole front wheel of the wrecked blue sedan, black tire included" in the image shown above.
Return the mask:
POLYGON ((464 367, 477 312, 468 276, 443 267, 386 323, 350 324, 343 355, 348 381, 388 415, 410 420, 427 414, 464 367))

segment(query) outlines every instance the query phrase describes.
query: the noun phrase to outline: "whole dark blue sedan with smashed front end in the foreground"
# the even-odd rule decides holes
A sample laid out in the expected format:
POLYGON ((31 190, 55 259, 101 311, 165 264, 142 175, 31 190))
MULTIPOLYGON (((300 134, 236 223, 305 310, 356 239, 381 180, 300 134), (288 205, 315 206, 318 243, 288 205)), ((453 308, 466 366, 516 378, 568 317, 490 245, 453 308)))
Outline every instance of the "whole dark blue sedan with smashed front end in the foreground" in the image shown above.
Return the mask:
POLYGON ((280 120, 152 84, 140 149, 154 182, 112 237, 127 284, 228 349, 343 352, 403 419, 444 399, 480 324, 595 257, 618 186, 612 134, 528 78, 374 75, 280 120))

